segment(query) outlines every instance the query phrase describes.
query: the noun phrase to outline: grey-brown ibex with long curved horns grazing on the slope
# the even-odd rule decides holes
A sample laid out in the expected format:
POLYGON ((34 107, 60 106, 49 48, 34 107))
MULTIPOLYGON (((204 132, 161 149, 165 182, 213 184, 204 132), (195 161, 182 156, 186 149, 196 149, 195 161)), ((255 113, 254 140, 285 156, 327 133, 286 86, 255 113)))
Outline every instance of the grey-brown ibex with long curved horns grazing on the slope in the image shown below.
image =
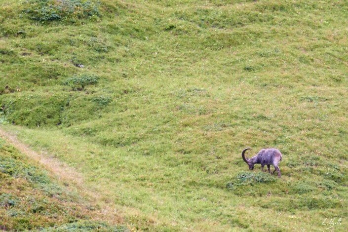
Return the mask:
POLYGON ((261 164, 261 169, 262 171, 264 171, 264 165, 267 165, 268 171, 271 173, 270 170, 270 165, 272 164, 274 166, 274 171, 272 172, 272 174, 277 171, 278 172, 278 177, 280 178, 280 169, 278 167, 278 164, 282 158, 281 153, 275 149, 275 148, 268 148, 268 149, 262 149, 257 155, 255 155, 252 158, 246 158, 245 157, 245 152, 247 150, 249 150, 251 148, 246 148, 243 150, 242 152, 242 158, 244 160, 244 162, 246 162, 249 165, 249 169, 253 170, 254 169, 254 165, 256 163, 260 163, 261 164))

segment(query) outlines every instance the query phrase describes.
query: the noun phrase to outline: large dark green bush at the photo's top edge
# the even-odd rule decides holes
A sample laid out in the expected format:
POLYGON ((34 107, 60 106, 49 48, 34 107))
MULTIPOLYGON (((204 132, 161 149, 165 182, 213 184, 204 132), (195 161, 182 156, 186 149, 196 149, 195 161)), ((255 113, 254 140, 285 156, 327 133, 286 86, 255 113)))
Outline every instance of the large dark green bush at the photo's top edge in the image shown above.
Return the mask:
POLYGON ((74 21, 100 16, 99 1, 93 0, 27 0, 24 12, 40 22, 74 21))

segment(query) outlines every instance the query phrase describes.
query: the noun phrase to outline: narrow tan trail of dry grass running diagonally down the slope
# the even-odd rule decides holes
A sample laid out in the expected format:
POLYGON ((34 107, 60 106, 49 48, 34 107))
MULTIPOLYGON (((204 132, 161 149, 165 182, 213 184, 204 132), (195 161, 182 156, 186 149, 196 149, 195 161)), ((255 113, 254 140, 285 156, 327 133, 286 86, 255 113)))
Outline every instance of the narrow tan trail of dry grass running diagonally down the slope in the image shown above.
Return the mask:
POLYGON ((4 131, 1 126, 0 137, 2 137, 8 144, 11 144, 18 149, 21 153, 27 155, 30 159, 39 162, 39 164, 41 164, 46 170, 55 175, 59 179, 59 182, 73 183, 73 185, 77 187, 78 191, 87 198, 88 201, 93 204, 98 203, 101 207, 95 217, 96 220, 103 220, 114 225, 124 224, 123 218, 118 215, 115 205, 105 203, 102 200, 101 193, 86 188, 84 186, 82 175, 76 170, 56 158, 49 157, 48 154, 39 154, 38 152, 33 151, 28 145, 20 142, 17 139, 17 136, 4 131))

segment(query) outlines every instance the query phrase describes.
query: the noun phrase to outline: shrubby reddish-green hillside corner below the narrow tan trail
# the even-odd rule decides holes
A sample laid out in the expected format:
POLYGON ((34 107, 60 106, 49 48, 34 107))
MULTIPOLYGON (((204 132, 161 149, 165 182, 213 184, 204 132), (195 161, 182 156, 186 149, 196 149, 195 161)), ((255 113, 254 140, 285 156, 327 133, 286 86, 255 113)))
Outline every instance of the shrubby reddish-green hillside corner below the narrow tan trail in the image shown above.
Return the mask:
POLYGON ((97 206, 68 186, 0 139, 0 230, 128 231, 93 220, 97 206))

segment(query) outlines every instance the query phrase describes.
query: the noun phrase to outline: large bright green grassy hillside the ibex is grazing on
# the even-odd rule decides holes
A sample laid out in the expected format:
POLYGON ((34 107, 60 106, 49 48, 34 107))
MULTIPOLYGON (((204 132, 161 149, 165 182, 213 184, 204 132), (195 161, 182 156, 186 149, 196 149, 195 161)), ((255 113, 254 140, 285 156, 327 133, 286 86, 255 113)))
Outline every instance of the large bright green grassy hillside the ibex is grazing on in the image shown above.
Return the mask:
POLYGON ((8 0, 0 122, 150 231, 313 231, 348 197, 348 3, 8 0), (276 147, 282 178, 240 153, 276 147))

